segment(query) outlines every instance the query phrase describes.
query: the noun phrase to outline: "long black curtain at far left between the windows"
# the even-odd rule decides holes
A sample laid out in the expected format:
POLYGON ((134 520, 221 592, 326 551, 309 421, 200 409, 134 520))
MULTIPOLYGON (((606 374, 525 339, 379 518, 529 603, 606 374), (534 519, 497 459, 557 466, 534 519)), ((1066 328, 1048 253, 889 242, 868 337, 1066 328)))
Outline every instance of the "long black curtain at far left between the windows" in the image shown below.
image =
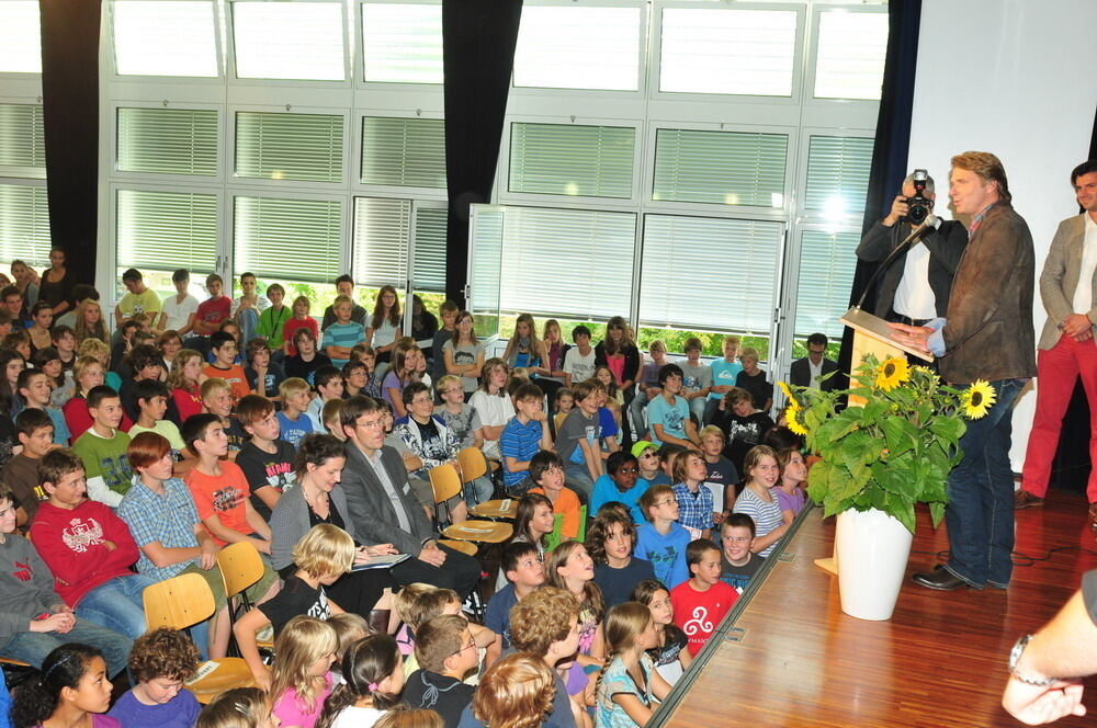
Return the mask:
POLYGON ((100 0, 38 0, 49 237, 69 275, 95 282, 100 0))

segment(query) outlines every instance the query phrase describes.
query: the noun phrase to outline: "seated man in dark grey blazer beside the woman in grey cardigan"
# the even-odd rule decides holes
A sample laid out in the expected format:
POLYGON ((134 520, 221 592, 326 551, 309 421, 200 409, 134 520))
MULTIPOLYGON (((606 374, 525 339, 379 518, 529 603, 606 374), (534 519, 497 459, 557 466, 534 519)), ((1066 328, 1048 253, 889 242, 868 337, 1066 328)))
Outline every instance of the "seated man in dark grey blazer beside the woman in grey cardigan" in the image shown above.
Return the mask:
POLYGON ((385 446, 386 411, 370 397, 351 397, 340 424, 347 434, 342 489, 358 538, 392 544, 412 558, 393 567, 393 579, 452 589, 464 599, 479 582, 479 562, 438 543, 438 533, 411 494, 404 459, 385 446))

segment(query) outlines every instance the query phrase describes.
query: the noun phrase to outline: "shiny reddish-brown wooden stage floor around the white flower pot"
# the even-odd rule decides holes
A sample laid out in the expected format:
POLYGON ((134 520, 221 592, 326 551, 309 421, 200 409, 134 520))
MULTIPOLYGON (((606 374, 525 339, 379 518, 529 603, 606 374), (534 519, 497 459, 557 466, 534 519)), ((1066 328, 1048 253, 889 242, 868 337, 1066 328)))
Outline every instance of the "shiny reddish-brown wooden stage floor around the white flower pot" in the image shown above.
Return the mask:
MULTIPOLYGON (((1006 657, 1018 636, 1047 622, 1097 568, 1097 532, 1081 497, 1053 491, 1044 508, 1017 513, 1013 583, 1006 591, 934 592, 907 581, 890 622, 844 614, 837 579, 813 560, 828 556, 834 520, 815 510, 663 725, 1018 726, 999 704, 1006 657), (1051 549, 1062 549, 1051 553, 1051 549)), ((908 573, 948 548, 919 513, 908 573)), ((1097 712, 1097 681, 1086 687, 1097 712)), ((1094 725, 1089 716, 1055 726, 1094 725)))

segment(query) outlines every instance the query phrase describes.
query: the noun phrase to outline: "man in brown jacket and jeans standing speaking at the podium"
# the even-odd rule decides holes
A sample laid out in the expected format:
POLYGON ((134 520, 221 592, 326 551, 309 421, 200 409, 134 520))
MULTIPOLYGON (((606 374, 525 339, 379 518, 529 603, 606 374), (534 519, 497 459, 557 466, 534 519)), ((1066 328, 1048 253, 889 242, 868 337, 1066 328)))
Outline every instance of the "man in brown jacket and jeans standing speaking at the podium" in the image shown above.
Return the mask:
POLYGON ((891 326, 896 340, 934 353, 941 376, 970 389, 971 409, 985 409, 985 414, 969 421, 960 440, 963 459, 949 474, 945 520, 951 557, 913 579, 942 591, 1005 589, 1014 547, 1013 403, 1036 376, 1032 235, 1010 205, 1006 172, 994 155, 957 155, 950 183, 953 208, 972 223, 948 311, 925 327, 891 326), (972 387, 979 380, 989 384, 972 387))

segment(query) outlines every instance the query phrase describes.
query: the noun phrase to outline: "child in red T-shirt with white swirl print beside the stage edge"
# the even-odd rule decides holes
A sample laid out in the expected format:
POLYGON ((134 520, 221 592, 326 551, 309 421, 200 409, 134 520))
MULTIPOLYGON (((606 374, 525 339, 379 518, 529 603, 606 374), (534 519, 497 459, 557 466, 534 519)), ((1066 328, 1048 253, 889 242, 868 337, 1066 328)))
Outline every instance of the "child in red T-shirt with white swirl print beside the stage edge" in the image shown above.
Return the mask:
POLYGON ((670 590, 675 624, 689 638, 689 653, 697 657, 720 627, 739 593, 720 580, 720 549, 708 538, 690 542, 686 564, 690 578, 670 590))

